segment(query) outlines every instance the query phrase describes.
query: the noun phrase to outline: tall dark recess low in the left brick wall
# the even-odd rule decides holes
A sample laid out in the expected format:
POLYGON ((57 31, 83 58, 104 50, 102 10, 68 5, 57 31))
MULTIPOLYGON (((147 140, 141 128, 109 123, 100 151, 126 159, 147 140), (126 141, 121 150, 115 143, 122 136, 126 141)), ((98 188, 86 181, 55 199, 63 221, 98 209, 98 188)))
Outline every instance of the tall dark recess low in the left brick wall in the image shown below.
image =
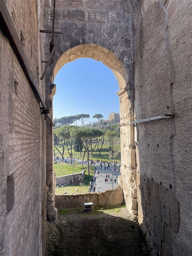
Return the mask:
POLYGON ((9 175, 6 180, 6 211, 9 212, 15 203, 15 181, 13 174, 9 175))

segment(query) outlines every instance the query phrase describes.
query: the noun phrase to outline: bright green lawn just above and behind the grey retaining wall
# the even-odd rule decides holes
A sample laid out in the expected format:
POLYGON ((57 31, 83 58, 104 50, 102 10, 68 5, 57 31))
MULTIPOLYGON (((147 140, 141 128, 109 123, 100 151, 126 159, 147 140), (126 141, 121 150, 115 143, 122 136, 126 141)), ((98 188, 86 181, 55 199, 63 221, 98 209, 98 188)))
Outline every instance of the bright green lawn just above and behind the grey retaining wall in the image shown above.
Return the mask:
POLYGON ((81 165, 75 165, 70 166, 69 164, 65 163, 58 163, 58 164, 53 164, 53 169, 56 172, 56 177, 62 176, 62 175, 68 175, 71 173, 81 173, 82 169, 86 169, 86 167, 81 166, 81 165))

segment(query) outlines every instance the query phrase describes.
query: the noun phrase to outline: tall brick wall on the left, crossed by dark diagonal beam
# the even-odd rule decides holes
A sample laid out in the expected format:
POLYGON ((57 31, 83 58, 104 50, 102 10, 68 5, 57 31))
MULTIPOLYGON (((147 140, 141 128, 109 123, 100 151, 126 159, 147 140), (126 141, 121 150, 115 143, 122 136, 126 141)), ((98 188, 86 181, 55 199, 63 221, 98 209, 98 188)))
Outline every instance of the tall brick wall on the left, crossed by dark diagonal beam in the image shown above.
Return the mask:
MULTIPOLYGON (((2 4, 2 3, 1 3, 2 4)), ((6 1, 29 70, 45 100, 40 81, 44 55, 39 1, 6 1)), ((0 21, 2 22, 2 21, 0 21)), ((4 29, 4 28, 3 28, 4 29)), ((3 31, 4 32, 4 31, 3 31)), ((40 104, 10 45, 0 31, 0 255, 45 252, 45 119, 40 104)))

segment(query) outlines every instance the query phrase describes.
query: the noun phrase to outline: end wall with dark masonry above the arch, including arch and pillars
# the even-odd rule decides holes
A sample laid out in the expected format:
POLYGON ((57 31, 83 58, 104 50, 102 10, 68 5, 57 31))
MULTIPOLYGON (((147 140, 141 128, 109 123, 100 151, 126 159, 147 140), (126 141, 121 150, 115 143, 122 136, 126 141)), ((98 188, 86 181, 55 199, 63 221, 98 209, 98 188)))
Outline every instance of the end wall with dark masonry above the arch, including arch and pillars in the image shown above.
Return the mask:
MULTIPOLYGON (((46 105, 52 116, 53 78, 67 62, 77 58, 93 58, 111 68, 119 83, 120 122, 134 119, 132 90, 132 12, 124 1, 73 2, 58 1, 55 7, 55 30, 62 32, 54 35, 55 54, 52 65, 47 69, 46 105), (83 4, 83 6, 82 6, 83 4), (89 6, 84 6, 89 5, 89 6), (75 9, 74 9, 75 8, 75 9), (54 71, 53 71, 54 70, 54 71)), ((51 1, 47 1, 44 13, 45 29, 52 28, 51 1)), ((45 58, 50 55, 51 34, 45 34, 45 58)), ((47 119, 47 216, 56 216, 54 208, 53 177, 53 130, 47 119)), ((124 197, 131 213, 137 213, 136 161, 134 147, 134 127, 121 127, 122 181, 124 197), (130 184, 130 185, 129 185, 130 184)))

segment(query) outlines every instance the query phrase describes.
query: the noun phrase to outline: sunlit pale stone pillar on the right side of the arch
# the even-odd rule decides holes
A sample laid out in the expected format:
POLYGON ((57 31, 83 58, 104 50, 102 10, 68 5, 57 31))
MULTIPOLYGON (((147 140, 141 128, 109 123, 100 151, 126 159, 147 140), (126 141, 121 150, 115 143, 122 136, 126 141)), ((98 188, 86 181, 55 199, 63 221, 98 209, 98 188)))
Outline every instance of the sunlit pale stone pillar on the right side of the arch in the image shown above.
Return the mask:
POLYGON ((136 183, 136 157, 134 146, 134 126, 127 125, 134 120, 132 103, 128 97, 128 90, 124 88, 117 95, 120 101, 120 128, 121 134, 121 176, 119 183, 124 191, 124 199, 130 213, 137 214, 137 183, 136 183))

